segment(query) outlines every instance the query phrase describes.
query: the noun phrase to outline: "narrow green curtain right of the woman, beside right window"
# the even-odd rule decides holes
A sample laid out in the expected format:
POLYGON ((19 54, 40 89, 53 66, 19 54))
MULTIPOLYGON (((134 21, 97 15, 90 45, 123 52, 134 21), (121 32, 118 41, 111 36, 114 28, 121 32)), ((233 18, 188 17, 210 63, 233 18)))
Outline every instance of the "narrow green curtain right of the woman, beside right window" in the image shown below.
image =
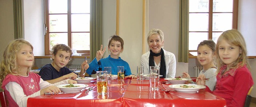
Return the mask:
POLYGON ((180 0, 178 62, 188 63, 188 21, 189 21, 189 0, 180 0))

